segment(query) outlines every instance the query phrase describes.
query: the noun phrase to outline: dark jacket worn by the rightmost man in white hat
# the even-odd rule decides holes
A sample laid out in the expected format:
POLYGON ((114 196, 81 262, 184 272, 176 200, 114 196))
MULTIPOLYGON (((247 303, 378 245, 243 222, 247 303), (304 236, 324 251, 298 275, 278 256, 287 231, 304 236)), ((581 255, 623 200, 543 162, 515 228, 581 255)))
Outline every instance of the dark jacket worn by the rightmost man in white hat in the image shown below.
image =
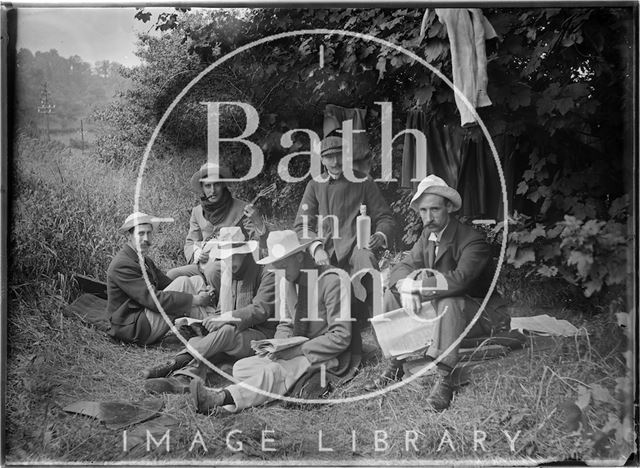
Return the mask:
MULTIPOLYGON (((489 245, 484 236, 472 227, 450 218, 440 238, 438 255, 431 259, 433 241, 429 241, 429 231, 424 229, 409 255, 391 271, 389 286, 395 287, 398 280, 407 278, 412 272, 429 268, 442 273, 447 280, 446 291, 429 291, 428 299, 464 296, 484 297, 491 284, 495 265, 489 245)), ((423 280, 424 287, 435 287, 436 278, 429 276, 423 280)))

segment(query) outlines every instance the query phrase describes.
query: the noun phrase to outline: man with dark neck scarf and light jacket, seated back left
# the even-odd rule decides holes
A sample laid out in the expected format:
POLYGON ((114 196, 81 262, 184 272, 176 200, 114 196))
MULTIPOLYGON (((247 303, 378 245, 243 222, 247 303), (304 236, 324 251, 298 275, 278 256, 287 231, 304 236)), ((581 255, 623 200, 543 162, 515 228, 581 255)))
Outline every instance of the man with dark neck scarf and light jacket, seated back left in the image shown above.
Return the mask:
POLYGON ((265 245, 268 231, 262 215, 253 204, 233 198, 227 184, 220 180, 230 178, 227 166, 213 163, 203 164, 191 176, 189 186, 199 196, 200 204, 191 210, 189 219, 184 244, 188 264, 169 270, 169 278, 203 274, 209 281, 215 267, 214 262, 209 262, 208 241, 217 237, 223 227, 240 226, 247 238, 259 239, 265 245))

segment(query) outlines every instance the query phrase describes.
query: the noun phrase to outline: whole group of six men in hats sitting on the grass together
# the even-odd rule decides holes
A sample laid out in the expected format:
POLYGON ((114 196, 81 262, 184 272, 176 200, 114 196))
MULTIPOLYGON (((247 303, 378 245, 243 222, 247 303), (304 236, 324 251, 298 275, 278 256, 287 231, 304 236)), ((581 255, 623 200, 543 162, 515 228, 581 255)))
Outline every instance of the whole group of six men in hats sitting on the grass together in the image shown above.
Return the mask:
MULTIPOLYGON (((238 411, 288 394, 320 366, 336 376, 353 368, 354 356, 361 353, 360 327, 370 318, 375 300, 373 279, 367 274, 358 277, 353 292, 345 294, 343 276, 336 272, 377 270, 375 253, 390 247, 395 222, 370 177, 358 171, 354 173, 360 181, 345 177, 342 146, 337 136, 322 140, 326 173, 307 184, 293 230, 268 232, 255 207, 233 198, 220 180, 231 177, 228 168, 203 165, 190 181, 200 204, 191 213, 184 248, 187 265, 166 274, 148 256, 157 220, 139 212, 127 217, 120 230, 128 241, 107 274, 110 334, 125 342, 155 343, 170 330, 161 310, 169 320, 202 319, 204 328, 169 362, 143 372, 147 390, 190 392, 202 413, 216 407, 238 411), (361 205, 371 217, 372 233, 368 245, 358 247, 356 217, 361 205), (287 316, 280 314, 276 297, 283 290, 281 277, 289 296, 293 294, 287 298, 292 305, 287 316), (311 288, 315 291, 310 293, 311 288), (308 298, 317 304, 309 304, 308 298), (353 321, 345 320, 345 307, 353 321), (261 356, 251 347, 253 340, 293 336, 308 339, 261 356), (225 359, 236 361, 236 383, 223 389, 207 387, 209 364, 225 359)), ((425 406, 436 411, 451 403, 458 338, 478 311, 494 272, 483 235, 452 216, 461 205, 459 193, 439 177, 422 180, 410 202, 422 219, 422 235, 392 268, 383 298, 384 310, 402 307, 417 313, 430 301, 438 315, 426 352, 427 359, 435 360, 437 373, 425 406), (425 274, 425 269, 439 278, 425 274), (436 287, 442 278, 446 289, 436 287)), ((481 332, 478 327, 471 333, 481 332)), ((365 389, 379 389, 402 377, 403 362, 391 359, 365 389)))

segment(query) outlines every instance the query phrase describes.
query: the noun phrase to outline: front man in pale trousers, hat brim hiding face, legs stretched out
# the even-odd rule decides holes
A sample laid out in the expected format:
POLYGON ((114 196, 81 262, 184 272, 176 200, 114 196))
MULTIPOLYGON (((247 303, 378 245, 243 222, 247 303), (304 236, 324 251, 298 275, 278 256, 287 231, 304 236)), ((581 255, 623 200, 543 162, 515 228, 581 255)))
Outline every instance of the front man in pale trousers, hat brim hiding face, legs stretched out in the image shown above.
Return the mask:
POLYGON ((337 274, 322 275, 329 267, 314 262, 306 251, 309 244, 300 244, 294 231, 275 231, 267 239, 269 255, 258 261, 284 271, 284 277, 298 288, 293 320, 282 320, 275 338, 299 336, 308 340, 266 356, 236 362, 233 377, 244 385, 237 383, 218 390, 205 387, 200 379, 192 380, 191 395, 198 412, 208 413, 218 406, 238 411, 266 403, 273 398, 254 389, 285 395, 300 377, 322 365, 335 374, 348 369, 351 322, 344 317, 340 319, 341 305, 349 306, 349 291, 341 288, 337 274), (318 273, 319 278, 310 279, 313 272, 318 273), (307 304, 309 288, 316 289, 317 294, 311 297, 317 297, 317 304, 307 304))

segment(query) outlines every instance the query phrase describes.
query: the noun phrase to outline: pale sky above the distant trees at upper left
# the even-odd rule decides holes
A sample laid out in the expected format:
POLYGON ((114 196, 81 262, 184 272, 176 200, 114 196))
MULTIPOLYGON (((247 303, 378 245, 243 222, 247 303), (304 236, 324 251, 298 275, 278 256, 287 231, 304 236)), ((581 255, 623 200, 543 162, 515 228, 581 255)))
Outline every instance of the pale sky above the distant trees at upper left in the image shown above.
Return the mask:
POLYGON ((133 7, 18 8, 16 46, 31 52, 56 49, 62 57, 79 55, 92 65, 99 60, 138 65, 136 34, 149 31, 157 13, 169 10, 149 8, 154 19, 143 23, 134 18, 133 7))

